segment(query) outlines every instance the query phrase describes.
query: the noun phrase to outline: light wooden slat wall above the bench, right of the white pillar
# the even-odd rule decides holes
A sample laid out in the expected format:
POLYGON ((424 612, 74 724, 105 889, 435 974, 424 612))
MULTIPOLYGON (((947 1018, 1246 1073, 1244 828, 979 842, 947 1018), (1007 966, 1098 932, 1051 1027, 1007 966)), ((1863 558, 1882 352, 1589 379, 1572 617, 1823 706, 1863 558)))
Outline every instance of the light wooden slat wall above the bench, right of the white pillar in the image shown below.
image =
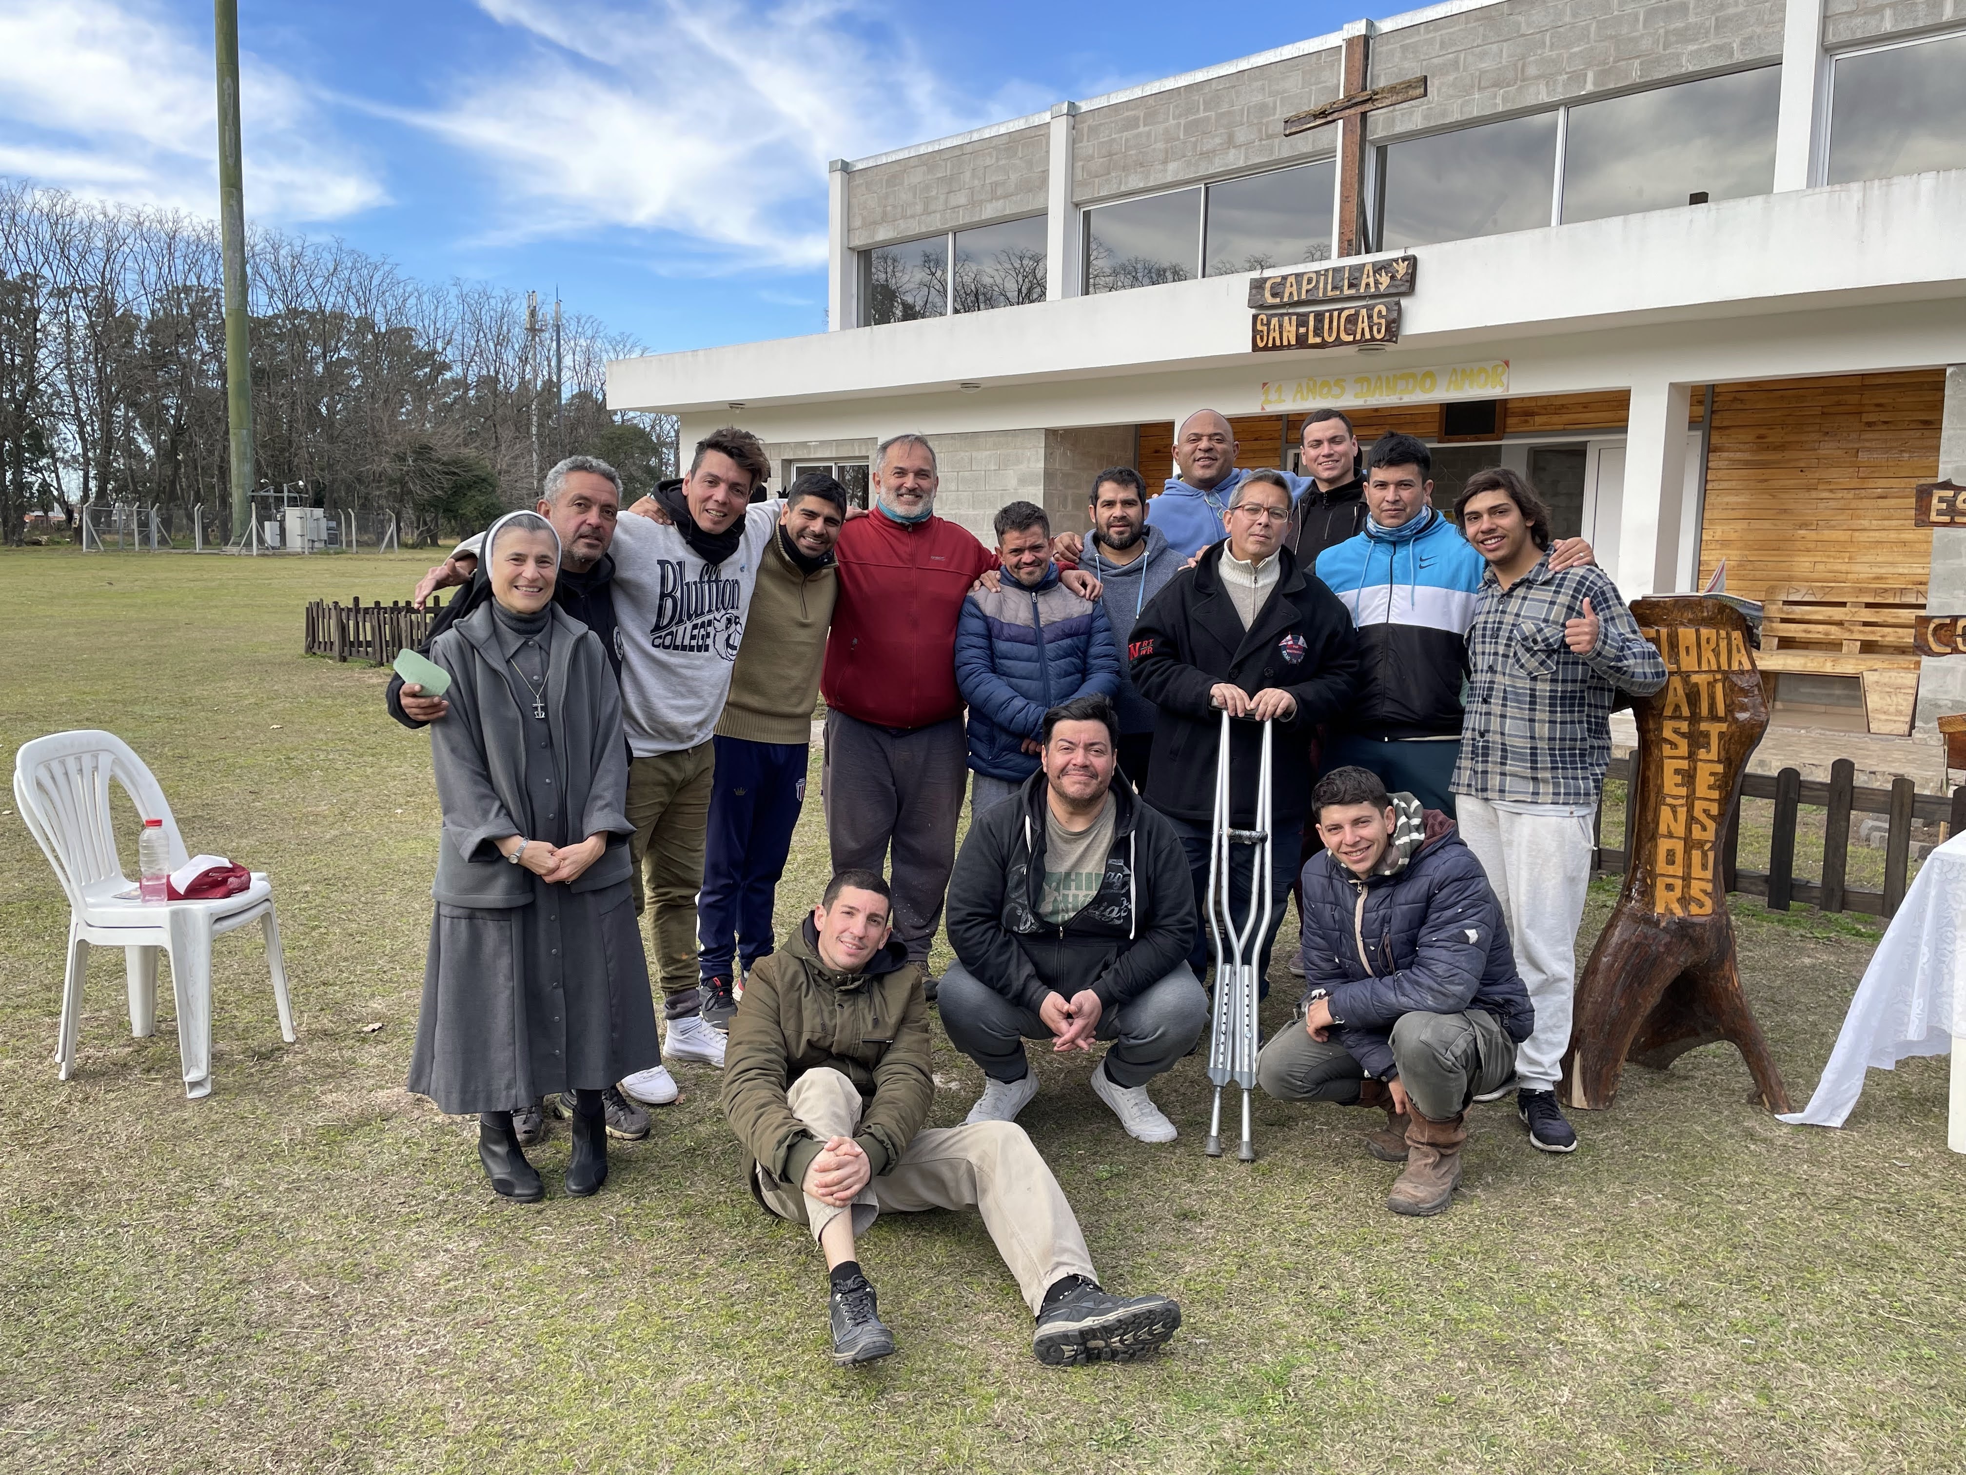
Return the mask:
POLYGON ((1765 380, 1714 389, 1701 582, 1726 559, 1730 594, 1791 584, 1923 582, 1931 531, 1911 488, 1938 476, 1944 370, 1765 380))

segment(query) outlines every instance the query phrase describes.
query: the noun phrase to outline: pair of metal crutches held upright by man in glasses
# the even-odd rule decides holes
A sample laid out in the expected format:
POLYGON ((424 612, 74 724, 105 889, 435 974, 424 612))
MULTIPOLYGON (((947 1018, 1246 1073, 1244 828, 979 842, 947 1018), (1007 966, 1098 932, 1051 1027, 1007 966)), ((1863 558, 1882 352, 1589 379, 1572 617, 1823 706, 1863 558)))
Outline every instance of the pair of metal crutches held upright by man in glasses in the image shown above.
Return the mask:
POLYGON ((1209 936, 1215 940, 1215 1013, 1209 1021, 1209 1080, 1215 1107, 1209 1111, 1209 1139, 1203 1152, 1223 1154, 1223 1088, 1243 1088, 1243 1162, 1256 1160, 1248 1141, 1248 1093, 1256 1090, 1256 960, 1270 934, 1270 724, 1262 724, 1262 765, 1256 769, 1256 828, 1237 830, 1229 802, 1229 724, 1223 712, 1221 741, 1215 749, 1215 822, 1209 826, 1209 936), (1231 907, 1231 846, 1254 846, 1248 875, 1248 909, 1237 926, 1231 907), (1260 911, 1258 911, 1260 909, 1260 911))

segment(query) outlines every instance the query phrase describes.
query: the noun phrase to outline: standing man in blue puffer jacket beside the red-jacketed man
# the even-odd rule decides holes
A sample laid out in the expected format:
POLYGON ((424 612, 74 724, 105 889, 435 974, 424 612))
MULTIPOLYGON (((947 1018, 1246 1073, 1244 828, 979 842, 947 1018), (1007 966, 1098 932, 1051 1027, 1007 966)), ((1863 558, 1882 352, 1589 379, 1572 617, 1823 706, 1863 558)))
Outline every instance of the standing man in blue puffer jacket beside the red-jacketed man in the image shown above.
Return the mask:
POLYGON ((1119 649, 1105 610, 1058 582, 1044 509, 997 513, 997 590, 963 600, 955 686, 969 702, 971 820, 1038 771, 1044 714, 1077 696, 1119 694, 1119 649))

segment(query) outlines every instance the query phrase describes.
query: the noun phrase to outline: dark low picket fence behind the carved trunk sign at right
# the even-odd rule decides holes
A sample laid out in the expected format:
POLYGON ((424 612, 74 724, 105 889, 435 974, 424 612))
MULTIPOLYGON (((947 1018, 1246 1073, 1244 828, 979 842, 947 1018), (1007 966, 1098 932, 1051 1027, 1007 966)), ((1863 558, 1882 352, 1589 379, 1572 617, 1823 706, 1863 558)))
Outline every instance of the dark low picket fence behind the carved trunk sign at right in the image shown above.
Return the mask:
MULTIPOLYGON (((1602 830, 1596 836, 1592 861, 1600 871, 1624 871, 1626 856, 1632 850, 1632 759, 1614 757, 1604 771, 1606 779, 1626 781, 1624 806, 1624 848, 1606 850, 1602 830)), ((1720 852, 1722 883, 1728 891, 1750 897, 1765 897, 1771 911, 1789 911, 1791 903, 1809 903, 1826 913, 1870 913, 1872 916, 1895 916, 1897 905, 1905 899, 1907 875, 1911 871, 1911 826, 1917 822, 1946 824, 1946 834, 1958 834, 1966 826, 1966 785, 1946 795, 1921 795, 1911 779, 1893 779, 1889 789, 1864 789, 1856 783, 1856 763, 1846 757, 1830 765, 1830 779, 1805 779, 1799 769, 1781 773, 1750 773, 1742 781, 1742 798, 1775 800, 1775 824, 1767 846, 1767 869, 1744 871, 1736 865, 1740 854, 1740 802, 1736 800, 1732 822, 1728 824, 1726 848, 1720 852), (1799 808, 1817 804, 1822 816, 1822 881, 1799 881, 1795 877, 1795 830, 1799 808), (1883 891, 1856 891, 1844 885, 1850 863, 1850 816, 1883 814, 1889 816, 1889 830, 1883 842, 1883 891)), ((1813 822, 1813 816, 1811 816, 1813 822)), ((1602 824, 1602 810, 1598 812, 1602 824)))

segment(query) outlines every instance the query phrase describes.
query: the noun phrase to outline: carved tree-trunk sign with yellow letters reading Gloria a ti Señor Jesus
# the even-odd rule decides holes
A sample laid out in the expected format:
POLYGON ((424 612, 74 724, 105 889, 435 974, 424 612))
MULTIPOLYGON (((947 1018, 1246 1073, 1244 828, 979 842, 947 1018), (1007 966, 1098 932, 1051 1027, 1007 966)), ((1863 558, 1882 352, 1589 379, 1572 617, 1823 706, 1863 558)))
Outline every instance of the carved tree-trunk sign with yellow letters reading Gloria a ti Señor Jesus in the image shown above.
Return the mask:
POLYGON ((1695 1046, 1732 1040, 1767 1109, 1787 1111, 1781 1072, 1740 991, 1720 877, 1748 755, 1767 728, 1748 621, 1697 594, 1638 600, 1632 616, 1667 678, 1634 704, 1632 856, 1577 981, 1563 1099, 1606 1107, 1626 1060, 1663 1070, 1695 1046))

